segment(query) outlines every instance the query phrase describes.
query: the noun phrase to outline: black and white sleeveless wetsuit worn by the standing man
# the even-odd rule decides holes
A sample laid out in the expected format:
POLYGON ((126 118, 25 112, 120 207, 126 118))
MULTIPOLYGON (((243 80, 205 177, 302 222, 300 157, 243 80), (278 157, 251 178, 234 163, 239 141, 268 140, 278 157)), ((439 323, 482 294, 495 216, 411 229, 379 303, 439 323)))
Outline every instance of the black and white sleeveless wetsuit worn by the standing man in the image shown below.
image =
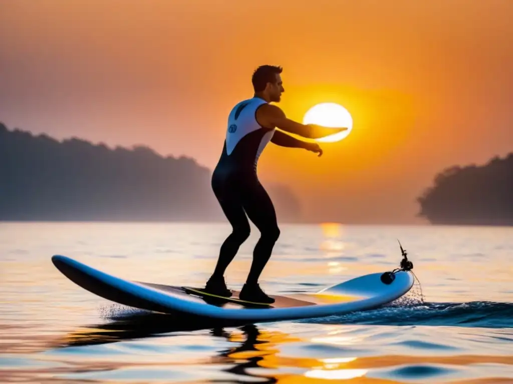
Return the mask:
POLYGON ((265 103, 265 100, 254 97, 234 106, 228 117, 223 152, 212 174, 213 192, 233 227, 221 246, 214 275, 224 274, 241 244, 249 237, 249 217, 261 232, 253 251, 249 284, 257 283, 280 236, 274 206, 257 177, 258 159, 274 134, 274 129, 262 127, 255 117, 257 109, 265 103))

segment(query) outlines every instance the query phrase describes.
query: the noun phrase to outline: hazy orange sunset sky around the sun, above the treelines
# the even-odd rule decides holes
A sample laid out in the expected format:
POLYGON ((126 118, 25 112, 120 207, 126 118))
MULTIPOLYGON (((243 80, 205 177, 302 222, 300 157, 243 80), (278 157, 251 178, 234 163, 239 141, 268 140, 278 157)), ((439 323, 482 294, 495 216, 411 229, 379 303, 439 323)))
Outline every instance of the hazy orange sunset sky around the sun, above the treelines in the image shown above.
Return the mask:
POLYGON ((2 2, 0 121, 213 168, 253 69, 281 65, 289 117, 335 101, 354 127, 321 158, 269 146, 263 182, 310 220, 419 222, 442 168, 513 151, 512 16, 510 0, 2 2))

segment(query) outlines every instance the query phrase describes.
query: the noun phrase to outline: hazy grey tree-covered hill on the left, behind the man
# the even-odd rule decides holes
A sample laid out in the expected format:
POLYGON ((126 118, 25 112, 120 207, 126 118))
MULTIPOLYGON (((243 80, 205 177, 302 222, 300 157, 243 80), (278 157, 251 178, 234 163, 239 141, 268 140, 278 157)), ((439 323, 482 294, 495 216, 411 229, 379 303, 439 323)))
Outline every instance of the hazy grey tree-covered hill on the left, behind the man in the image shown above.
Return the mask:
MULTIPOLYGON (((0 123, 0 220, 224 221, 210 177, 188 157, 59 142, 0 123)), ((283 217, 297 219, 290 190, 271 193, 283 217)))

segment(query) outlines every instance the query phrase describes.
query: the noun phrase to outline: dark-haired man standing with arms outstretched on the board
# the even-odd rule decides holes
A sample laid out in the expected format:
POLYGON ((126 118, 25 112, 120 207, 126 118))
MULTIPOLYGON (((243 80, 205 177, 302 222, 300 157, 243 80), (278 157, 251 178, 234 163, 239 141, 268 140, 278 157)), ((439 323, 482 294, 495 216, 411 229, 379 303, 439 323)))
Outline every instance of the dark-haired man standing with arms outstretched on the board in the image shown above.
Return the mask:
POLYGON ((285 92, 281 73, 281 67, 268 65, 255 70, 252 76, 253 97, 236 104, 228 116, 223 152, 212 174, 212 189, 233 230, 221 246, 219 260, 205 286, 205 291, 212 294, 231 296, 224 273, 239 247, 249 237, 247 215, 259 229, 261 237, 254 248, 253 262, 239 297, 252 302, 274 302, 258 284, 274 243, 280 236, 274 206, 257 177, 260 154, 270 141, 280 146, 304 148, 321 156, 323 152, 319 144, 295 139, 282 131, 319 138, 347 129, 303 125, 286 118, 278 106, 270 104, 279 102, 285 92))

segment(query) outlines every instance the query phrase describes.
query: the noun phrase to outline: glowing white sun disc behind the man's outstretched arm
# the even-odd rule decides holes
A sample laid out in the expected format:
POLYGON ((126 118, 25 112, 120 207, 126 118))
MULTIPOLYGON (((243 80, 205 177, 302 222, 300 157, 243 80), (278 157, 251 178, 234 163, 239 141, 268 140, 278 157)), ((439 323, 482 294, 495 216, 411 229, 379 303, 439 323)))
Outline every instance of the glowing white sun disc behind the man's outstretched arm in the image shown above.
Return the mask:
POLYGON ((347 137, 352 130, 351 114, 340 104, 320 103, 312 106, 303 117, 303 124, 318 124, 329 127, 347 127, 347 131, 326 136, 315 141, 335 142, 347 137))

